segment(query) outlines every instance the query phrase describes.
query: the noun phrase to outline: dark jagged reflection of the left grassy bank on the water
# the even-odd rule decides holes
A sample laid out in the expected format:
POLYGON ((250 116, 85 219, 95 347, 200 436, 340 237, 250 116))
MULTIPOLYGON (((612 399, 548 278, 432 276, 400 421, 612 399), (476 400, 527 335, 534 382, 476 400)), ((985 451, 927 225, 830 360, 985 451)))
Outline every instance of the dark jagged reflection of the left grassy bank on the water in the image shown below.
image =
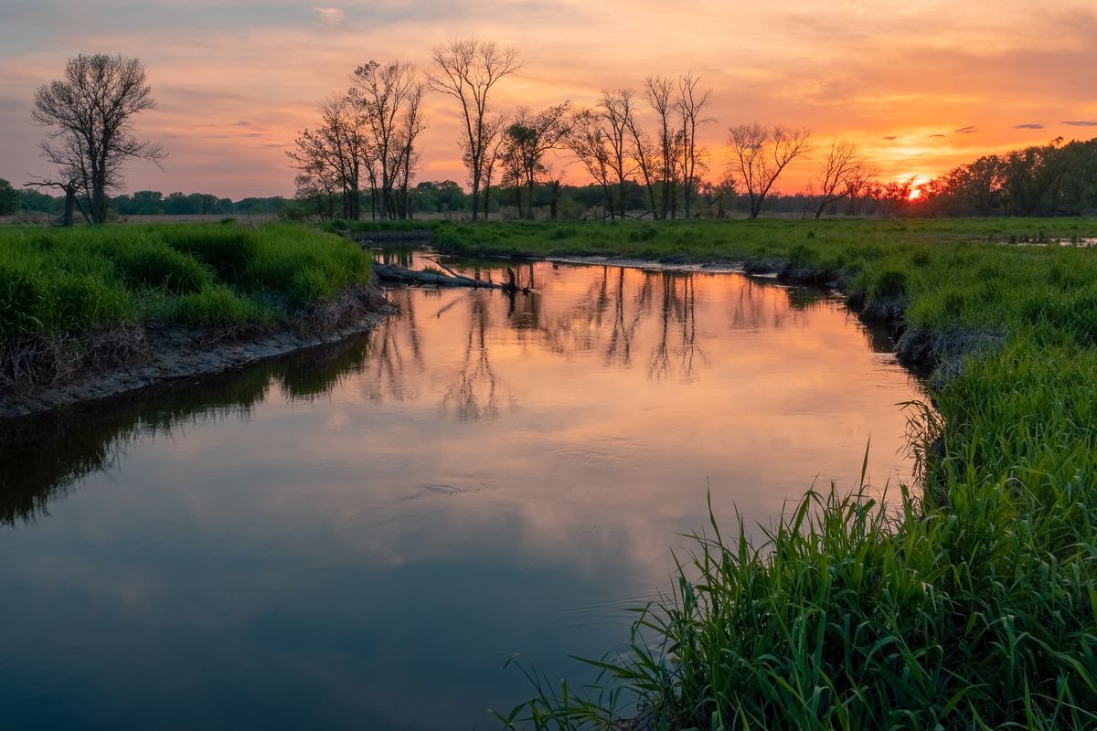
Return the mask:
POLYGON ((290 400, 327 393, 361 369, 366 338, 313 349, 239 372, 123 397, 65 414, 22 419, 0 431, 0 524, 48 515, 80 478, 111 469, 139 439, 192 424, 247 421, 272 385, 290 400))

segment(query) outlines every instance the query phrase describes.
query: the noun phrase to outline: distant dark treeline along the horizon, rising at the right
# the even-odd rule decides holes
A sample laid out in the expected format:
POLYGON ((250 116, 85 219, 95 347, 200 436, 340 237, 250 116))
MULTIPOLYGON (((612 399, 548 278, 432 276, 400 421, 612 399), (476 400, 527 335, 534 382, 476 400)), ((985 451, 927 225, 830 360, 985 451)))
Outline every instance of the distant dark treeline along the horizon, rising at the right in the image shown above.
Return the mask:
MULTIPOLYGON (((825 204, 826 217, 841 218, 935 218, 935 217, 1071 217, 1097 215, 1097 138, 1087 141, 1053 144, 1015 150, 1003 156, 980 158, 960 165, 931 181, 914 180, 887 185, 867 185, 863 191, 845 193, 825 204)), ((32 212, 59 217, 65 197, 31 190, 4 189, 0 181, 0 215, 32 212), (5 191, 9 191, 5 193, 5 191)), ((658 182, 655 183, 658 186, 658 182)), ((654 219, 644 186, 626 180, 614 186, 624 214, 619 218, 654 219)), ((534 218, 580 220, 608 218, 603 187, 536 183, 532 189, 532 208, 525 203, 530 189, 491 185, 482 193, 494 220, 518 220, 531 210, 534 218), (521 197, 524 196, 524 197, 521 197)), ((694 203, 694 217, 703 219, 746 218, 750 202, 734 190, 701 184, 694 203)), ((341 194, 339 194, 341 195, 341 194)), ((360 219, 381 220, 384 216, 371 208, 371 192, 360 191, 360 219)), ((193 216, 267 214, 293 220, 335 220, 342 207, 335 193, 323 199, 313 197, 247 197, 239 201, 208 193, 137 191, 132 195, 108 198, 109 218, 126 216, 193 216), (335 196, 335 197, 332 197, 335 196)), ((819 195, 812 192, 771 193, 761 216, 813 218, 821 207, 819 195)), ((407 191, 407 217, 467 219, 472 196, 456 182, 422 181, 407 191)), ((680 220, 680 218, 678 219, 680 220)))

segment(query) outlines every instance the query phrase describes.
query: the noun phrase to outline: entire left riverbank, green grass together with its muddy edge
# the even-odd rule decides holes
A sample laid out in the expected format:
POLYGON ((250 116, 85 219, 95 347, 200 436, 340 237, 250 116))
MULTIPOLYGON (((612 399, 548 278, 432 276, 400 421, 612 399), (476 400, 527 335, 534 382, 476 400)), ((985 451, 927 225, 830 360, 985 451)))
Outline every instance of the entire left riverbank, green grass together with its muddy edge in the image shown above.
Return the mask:
POLYGON ((333 342, 391 311, 369 254, 293 226, 0 236, 0 419, 333 342))

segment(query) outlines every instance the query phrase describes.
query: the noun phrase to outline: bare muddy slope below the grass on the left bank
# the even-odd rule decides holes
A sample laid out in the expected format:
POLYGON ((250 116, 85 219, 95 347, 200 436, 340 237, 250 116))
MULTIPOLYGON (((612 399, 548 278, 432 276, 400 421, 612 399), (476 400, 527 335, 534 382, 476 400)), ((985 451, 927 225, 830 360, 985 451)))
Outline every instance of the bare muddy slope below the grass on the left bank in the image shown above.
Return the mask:
POLYGON ((30 353, 24 369, 4 374, 0 384, 0 424, 333 343, 372 329, 395 311, 380 286, 372 284, 350 287, 274 328, 131 324, 22 344, 30 353))

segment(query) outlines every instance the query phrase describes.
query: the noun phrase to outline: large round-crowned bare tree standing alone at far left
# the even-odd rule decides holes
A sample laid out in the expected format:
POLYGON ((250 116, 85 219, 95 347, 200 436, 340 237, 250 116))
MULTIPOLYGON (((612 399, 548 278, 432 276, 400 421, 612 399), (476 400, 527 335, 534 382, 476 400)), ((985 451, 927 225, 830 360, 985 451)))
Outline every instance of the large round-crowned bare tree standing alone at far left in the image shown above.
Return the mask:
POLYGON ((121 184, 128 159, 167 157, 160 145, 134 136, 133 117, 155 107, 145 66, 105 54, 68 59, 65 78, 34 93, 32 117, 49 129, 43 156, 88 199, 92 222, 106 219, 106 192, 121 184))

